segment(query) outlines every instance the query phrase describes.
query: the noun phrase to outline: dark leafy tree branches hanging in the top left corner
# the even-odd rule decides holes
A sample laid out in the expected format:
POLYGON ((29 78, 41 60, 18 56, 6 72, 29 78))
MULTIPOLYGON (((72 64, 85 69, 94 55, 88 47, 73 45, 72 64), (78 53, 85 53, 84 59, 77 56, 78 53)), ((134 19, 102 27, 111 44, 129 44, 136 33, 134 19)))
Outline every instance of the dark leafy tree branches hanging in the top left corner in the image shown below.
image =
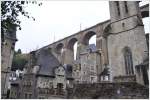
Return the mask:
MULTIPOLYGON (((1 42, 4 41, 4 33, 14 29, 21 30, 21 21, 18 19, 20 14, 35 20, 24 10, 24 5, 29 3, 37 4, 36 1, 1 1, 1 42)), ((38 3, 38 5, 41 6, 42 3, 38 3)))

